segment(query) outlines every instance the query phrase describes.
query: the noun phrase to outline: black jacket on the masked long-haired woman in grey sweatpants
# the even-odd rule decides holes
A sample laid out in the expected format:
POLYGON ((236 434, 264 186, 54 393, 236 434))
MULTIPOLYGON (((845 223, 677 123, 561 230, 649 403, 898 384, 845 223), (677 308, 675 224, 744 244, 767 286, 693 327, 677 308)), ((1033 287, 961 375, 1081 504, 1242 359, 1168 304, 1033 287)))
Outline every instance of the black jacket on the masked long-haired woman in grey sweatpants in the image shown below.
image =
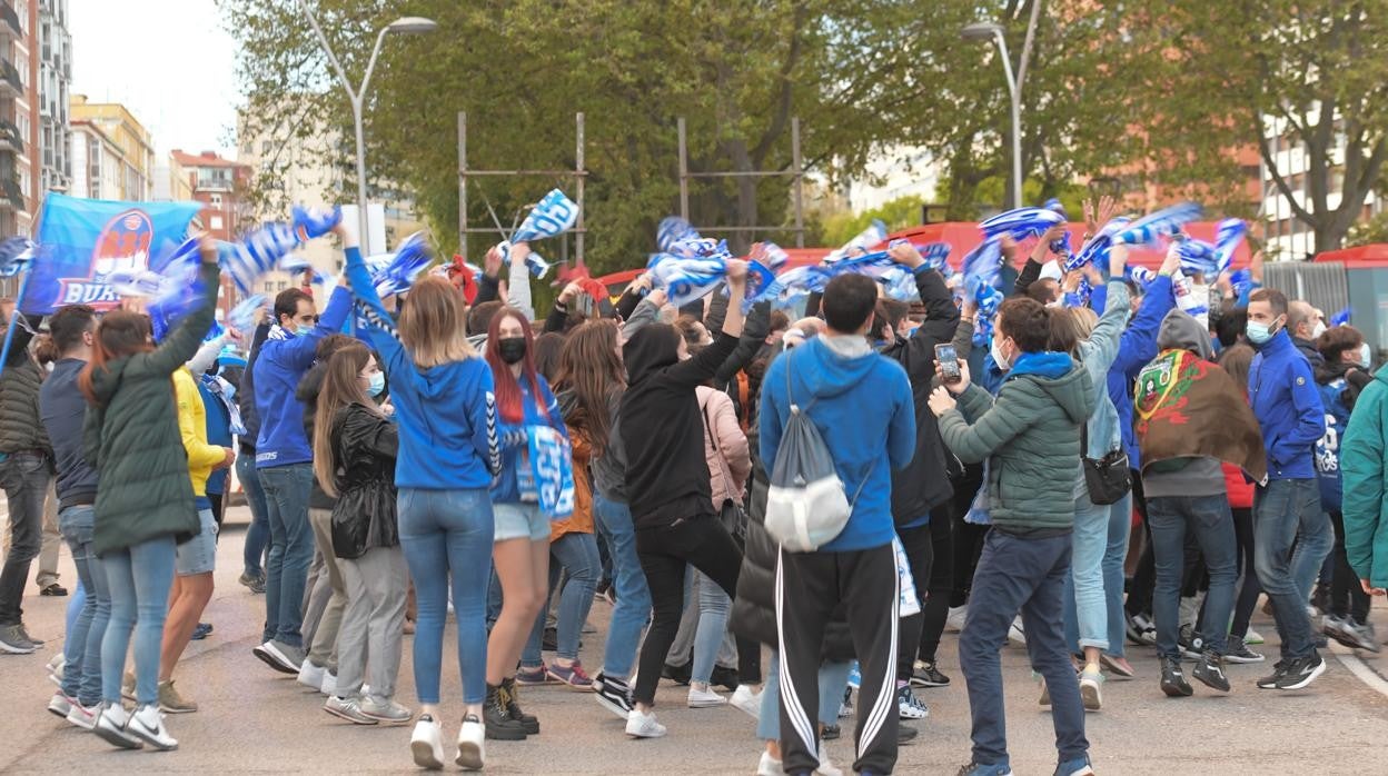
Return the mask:
POLYGON ((333 418, 337 501, 333 504, 333 554, 359 558, 366 550, 400 544, 396 519, 396 423, 361 404, 333 418))

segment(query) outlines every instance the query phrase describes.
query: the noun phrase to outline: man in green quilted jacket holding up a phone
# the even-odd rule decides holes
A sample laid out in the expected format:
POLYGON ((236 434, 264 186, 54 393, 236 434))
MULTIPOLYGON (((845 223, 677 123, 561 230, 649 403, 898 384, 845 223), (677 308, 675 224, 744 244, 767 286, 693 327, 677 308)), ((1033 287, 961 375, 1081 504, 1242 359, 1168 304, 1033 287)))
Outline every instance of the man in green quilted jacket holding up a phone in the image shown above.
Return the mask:
POLYGON ((998 310, 992 358, 1006 378, 994 400, 962 366, 958 383, 930 396, 945 447, 960 461, 988 461, 992 529, 973 576, 959 665, 973 715, 973 759, 963 776, 1012 772, 998 651, 1017 611, 1031 668, 1051 691, 1062 776, 1092 775, 1080 683, 1065 641, 1065 580, 1070 575, 1080 426, 1094 408, 1088 371, 1067 353, 1048 351, 1052 311, 1013 297, 998 310), (954 396, 951 396, 954 394, 954 396), (954 398, 958 396, 958 401, 954 398))

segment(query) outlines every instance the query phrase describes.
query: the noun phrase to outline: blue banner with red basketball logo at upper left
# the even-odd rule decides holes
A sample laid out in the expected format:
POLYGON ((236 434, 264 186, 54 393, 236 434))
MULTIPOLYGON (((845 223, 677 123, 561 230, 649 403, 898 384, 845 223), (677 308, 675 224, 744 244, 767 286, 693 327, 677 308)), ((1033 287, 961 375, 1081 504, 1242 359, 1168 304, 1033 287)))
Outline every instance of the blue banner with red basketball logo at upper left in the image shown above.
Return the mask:
POLYGON ((50 193, 43 201, 26 314, 47 315, 67 304, 112 310, 121 303, 107 278, 150 267, 171 255, 201 203, 121 203, 50 193))

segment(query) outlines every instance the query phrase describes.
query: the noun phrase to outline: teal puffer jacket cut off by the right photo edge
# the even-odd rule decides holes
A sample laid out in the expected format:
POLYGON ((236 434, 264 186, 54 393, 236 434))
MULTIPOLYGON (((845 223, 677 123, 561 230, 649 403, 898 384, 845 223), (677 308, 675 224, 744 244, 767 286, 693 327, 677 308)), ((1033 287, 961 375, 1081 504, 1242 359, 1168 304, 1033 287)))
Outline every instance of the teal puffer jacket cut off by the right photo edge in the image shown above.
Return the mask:
POLYGON ((1388 587, 1388 369, 1378 369, 1339 440, 1345 555, 1355 576, 1388 587))

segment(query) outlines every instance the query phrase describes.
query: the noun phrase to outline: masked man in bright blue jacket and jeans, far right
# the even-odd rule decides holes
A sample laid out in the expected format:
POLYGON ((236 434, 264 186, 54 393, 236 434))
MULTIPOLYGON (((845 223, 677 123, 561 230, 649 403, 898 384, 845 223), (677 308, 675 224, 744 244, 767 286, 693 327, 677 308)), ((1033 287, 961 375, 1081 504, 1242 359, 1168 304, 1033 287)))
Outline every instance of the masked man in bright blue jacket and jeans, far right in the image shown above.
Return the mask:
POLYGON ((1301 690, 1326 670, 1306 614, 1310 590, 1296 584, 1298 569, 1320 568, 1334 541, 1320 508, 1314 466, 1326 410, 1310 364, 1287 333, 1287 297, 1281 292, 1259 289, 1249 297, 1248 341, 1258 350, 1248 372, 1248 396, 1267 447, 1267 483, 1253 496, 1253 566, 1283 636, 1283 659, 1258 686, 1301 690))

